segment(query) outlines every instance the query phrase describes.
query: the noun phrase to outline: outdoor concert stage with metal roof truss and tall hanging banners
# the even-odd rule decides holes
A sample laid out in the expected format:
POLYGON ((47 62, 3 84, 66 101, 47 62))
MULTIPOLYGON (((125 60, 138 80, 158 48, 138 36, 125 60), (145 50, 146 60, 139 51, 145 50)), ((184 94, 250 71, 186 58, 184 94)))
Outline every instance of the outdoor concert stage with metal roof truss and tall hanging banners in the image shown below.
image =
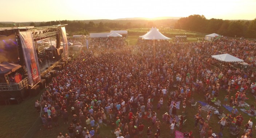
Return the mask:
POLYGON ((0 66, 0 104, 37 96, 57 75, 53 68, 61 70, 66 65, 68 45, 63 26, 0 28, 0 63, 8 61, 10 65, 0 66))

